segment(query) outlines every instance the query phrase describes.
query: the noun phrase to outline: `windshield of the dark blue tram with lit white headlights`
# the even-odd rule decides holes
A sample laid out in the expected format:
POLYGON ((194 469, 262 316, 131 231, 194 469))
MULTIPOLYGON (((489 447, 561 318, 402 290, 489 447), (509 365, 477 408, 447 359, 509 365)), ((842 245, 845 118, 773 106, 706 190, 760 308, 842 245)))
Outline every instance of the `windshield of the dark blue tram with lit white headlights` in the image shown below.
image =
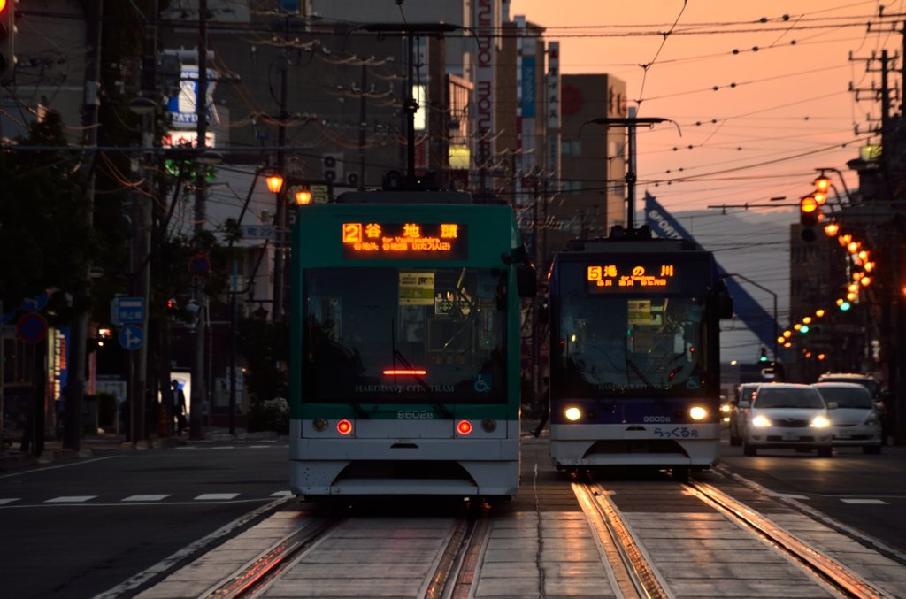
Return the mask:
POLYGON ((644 287, 589 293, 577 277, 581 285, 563 290, 559 308, 555 367, 564 393, 699 395, 716 367, 708 356, 716 331, 706 314, 707 285, 692 285, 691 278, 659 296, 644 287))

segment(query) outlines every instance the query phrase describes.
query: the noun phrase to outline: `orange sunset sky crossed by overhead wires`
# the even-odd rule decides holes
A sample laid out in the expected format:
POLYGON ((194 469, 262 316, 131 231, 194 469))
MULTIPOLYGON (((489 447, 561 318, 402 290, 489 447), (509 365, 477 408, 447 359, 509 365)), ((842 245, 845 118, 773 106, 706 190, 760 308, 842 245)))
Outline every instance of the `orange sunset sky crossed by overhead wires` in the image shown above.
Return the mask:
MULTIPOLYGON (((513 0, 510 15, 525 14, 560 41, 564 73, 611 73, 627 82, 640 116, 679 123, 682 137, 667 123, 640 130, 637 197, 649 190, 681 211, 780 196, 786 201, 774 205, 798 202, 823 167, 857 187, 846 161, 878 142, 869 115, 879 118, 881 105, 872 92, 857 101, 850 83, 880 88, 881 63, 866 72, 866 60, 850 53, 867 59, 886 49, 896 57, 891 87, 900 90, 904 4, 513 0)), ((892 96, 892 111, 900 104, 892 96)))

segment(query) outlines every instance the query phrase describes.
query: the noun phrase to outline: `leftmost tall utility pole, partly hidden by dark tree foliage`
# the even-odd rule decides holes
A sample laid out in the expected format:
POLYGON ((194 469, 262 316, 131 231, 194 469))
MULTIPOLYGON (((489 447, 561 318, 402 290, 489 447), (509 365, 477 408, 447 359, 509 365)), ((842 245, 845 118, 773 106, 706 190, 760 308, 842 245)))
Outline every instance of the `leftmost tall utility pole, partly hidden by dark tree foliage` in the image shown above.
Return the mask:
MULTIPOLYGON (((103 13, 103 0, 91 0, 89 3, 87 23, 88 54, 85 57, 84 101, 82 104, 82 123, 85 132, 82 140, 85 146, 98 145, 98 104, 101 87, 101 14, 103 13)), ((89 172, 88 188, 85 190, 86 206, 85 217, 89 225, 94 221, 94 169, 93 165, 98 160, 98 152, 94 152, 92 167, 89 172)), ((63 447, 67 449, 82 449, 82 397, 85 394, 85 344, 88 343, 88 308, 89 298, 87 286, 91 278, 85 273, 86 289, 83 294, 76 295, 78 315, 72 323, 70 337, 69 363, 70 378, 66 390, 66 410, 63 447)))

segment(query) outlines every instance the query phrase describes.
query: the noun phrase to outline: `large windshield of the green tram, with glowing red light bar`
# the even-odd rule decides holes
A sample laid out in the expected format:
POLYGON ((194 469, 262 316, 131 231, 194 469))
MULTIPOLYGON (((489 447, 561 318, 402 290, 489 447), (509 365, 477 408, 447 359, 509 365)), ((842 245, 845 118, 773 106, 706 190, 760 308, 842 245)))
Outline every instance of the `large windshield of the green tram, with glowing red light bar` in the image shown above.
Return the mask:
POLYGON ((506 271, 304 270, 302 400, 506 402, 506 271))

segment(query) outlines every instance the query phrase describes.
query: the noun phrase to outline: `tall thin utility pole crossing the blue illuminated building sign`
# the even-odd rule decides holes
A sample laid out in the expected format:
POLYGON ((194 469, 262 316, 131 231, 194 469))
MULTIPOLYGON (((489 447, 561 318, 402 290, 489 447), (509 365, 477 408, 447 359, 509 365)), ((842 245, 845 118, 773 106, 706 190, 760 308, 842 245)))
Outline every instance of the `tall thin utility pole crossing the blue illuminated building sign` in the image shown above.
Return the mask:
MULTIPOLYGON (((198 117, 198 150, 207 147, 207 0, 198 0, 198 93, 195 111, 198 117)), ((207 218, 205 183, 206 165, 200 160, 196 164, 195 177, 195 233, 198 236, 205 228, 207 218)), ((202 412, 207 399, 205 384, 205 288, 199 277, 195 278, 193 295, 198 303, 198 323, 195 325, 195 352, 192 363, 192 396, 189 400, 189 439, 199 440, 204 436, 202 412)))

